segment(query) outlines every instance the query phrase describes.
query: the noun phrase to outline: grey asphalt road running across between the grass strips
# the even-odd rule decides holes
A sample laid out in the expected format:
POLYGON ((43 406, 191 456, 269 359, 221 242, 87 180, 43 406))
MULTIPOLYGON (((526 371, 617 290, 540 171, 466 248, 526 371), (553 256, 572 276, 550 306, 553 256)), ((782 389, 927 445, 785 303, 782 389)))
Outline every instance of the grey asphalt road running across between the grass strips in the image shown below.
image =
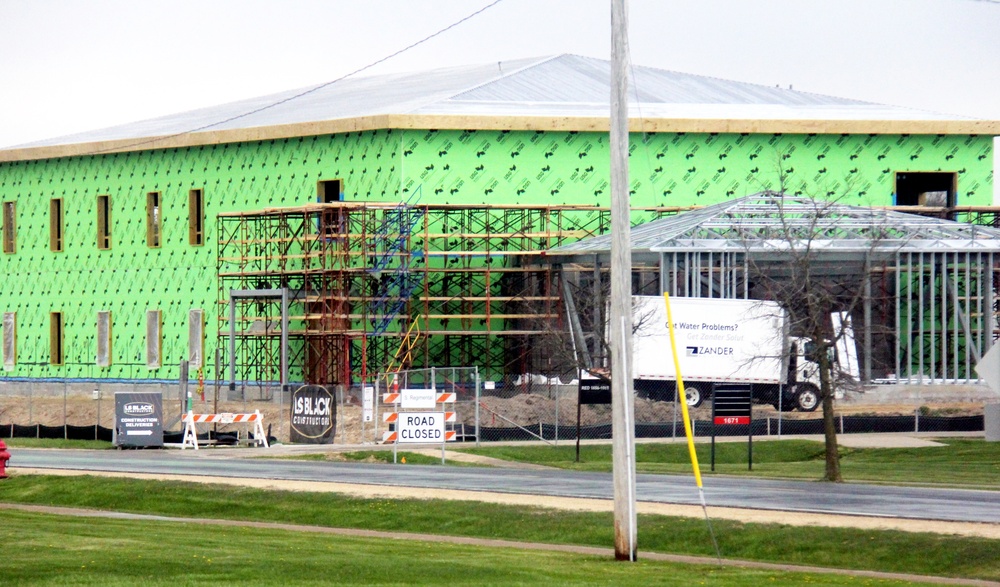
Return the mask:
MULTIPOLYGON (((9 466, 613 497, 609 473, 218 458, 210 451, 18 449, 9 466)), ((636 495, 640 501, 700 504, 689 476, 639 475, 636 495)), ((705 480, 705 497, 721 507, 1000 523, 1000 492, 992 491, 712 477, 705 480)))

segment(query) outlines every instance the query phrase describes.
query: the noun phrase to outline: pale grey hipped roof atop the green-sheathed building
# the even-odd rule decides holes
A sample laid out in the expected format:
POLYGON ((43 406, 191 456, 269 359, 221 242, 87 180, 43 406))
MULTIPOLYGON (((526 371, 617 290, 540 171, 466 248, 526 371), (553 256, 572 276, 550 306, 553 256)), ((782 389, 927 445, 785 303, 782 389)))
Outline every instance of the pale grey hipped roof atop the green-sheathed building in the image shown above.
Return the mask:
MULTIPOLYGON (((53 139, 24 149, 379 115, 607 117, 610 64, 577 55, 351 77, 53 139)), ((647 119, 974 120, 635 66, 630 115, 647 119)))

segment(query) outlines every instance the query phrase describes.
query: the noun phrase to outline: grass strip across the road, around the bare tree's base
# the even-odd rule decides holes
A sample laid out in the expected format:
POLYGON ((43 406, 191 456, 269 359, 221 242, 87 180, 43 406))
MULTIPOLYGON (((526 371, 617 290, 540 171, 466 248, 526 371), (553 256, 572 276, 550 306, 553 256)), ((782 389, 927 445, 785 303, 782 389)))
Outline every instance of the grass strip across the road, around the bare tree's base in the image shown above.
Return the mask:
MULTIPOLYGON (((945 446, 925 448, 840 447, 841 473, 846 481, 900 484, 947 484, 955 487, 1000 490, 1000 442, 944 438, 945 446)), ((462 452, 509 461, 536 463, 582 471, 611 471, 611 446, 583 445, 580 462, 576 447, 483 446, 461 447, 462 452)), ((747 470, 746 442, 718 442, 715 472, 790 479, 819 479, 823 475, 823 443, 808 440, 768 440, 753 444, 753 470, 747 470)), ((711 475, 711 446, 696 445, 702 474, 711 475)), ((636 444, 636 472, 691 473, 687 444, 636 444)))

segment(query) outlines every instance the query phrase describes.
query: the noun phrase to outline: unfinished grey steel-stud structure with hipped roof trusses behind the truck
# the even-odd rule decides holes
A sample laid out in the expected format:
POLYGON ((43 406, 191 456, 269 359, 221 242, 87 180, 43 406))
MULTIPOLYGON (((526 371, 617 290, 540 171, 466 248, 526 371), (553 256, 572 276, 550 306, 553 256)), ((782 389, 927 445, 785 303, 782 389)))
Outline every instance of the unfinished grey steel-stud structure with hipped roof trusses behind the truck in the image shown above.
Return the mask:
MULTIPOLYGON (((633 255, 656 259, 671 295, 749 298, 751 270, 781 275, 791 252, 808 247, 819 279, 864 288, 855 324, 865 380, 977 380, 973 367, 1000 336, 1000 210, 946 214, 966 222, 899 210, 764 192, 639 227, 633 255)), ((596 237, 550 257, 583 263, 608 250, 607 238, 596 237)))

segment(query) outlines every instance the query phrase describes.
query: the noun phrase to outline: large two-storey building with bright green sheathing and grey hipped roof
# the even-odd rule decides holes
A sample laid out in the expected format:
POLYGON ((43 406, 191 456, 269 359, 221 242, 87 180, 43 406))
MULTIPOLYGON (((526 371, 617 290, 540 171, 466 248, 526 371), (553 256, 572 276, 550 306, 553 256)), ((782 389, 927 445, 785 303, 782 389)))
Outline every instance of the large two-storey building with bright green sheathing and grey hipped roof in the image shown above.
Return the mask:
MULTIPOLYGON (((998 121, 632 73, 635 209, 1000 204, 998 121)), ((554 371, 544 252, 607 230, 609 80, 576 55, 347 78, 0 149, 0 380, 554 371)), ((599 295, 605 269, 565 281, 599 295)))

